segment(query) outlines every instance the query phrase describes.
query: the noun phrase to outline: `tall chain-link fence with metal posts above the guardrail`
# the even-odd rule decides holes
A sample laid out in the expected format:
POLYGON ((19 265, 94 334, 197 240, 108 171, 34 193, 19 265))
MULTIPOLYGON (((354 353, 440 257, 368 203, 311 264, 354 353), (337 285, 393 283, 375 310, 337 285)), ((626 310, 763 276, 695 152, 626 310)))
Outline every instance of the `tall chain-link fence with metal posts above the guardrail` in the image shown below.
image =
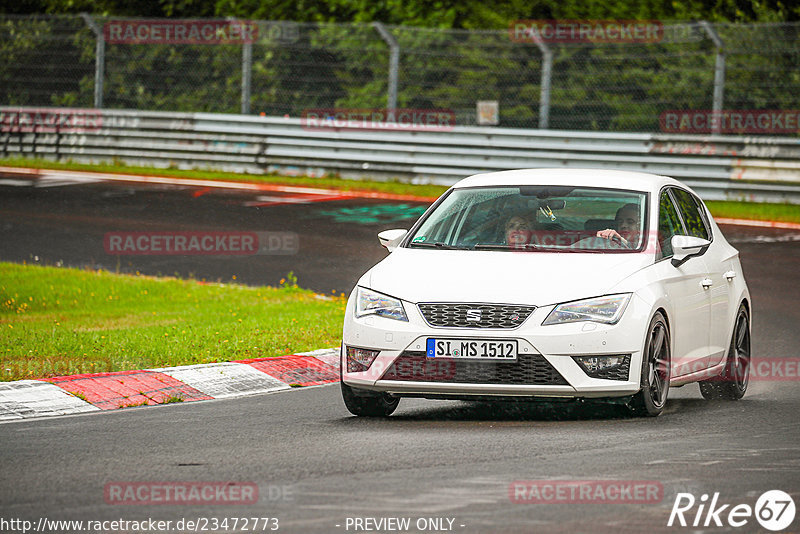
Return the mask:
POLYGON ((510 30, 3 16, 0 104, 292 117, 396 106, 473 125, 476 103, 494 101, 499 126, 630 132, 659 131, 668 111, 800 107, 800 24, 660 31, 544 42, 510 30), (176 24, 186 33, 169 42, 176 24), (224 24, 252 32, 219 38, 224 24), (215 37, 204 40, 208 25, 215 37))

